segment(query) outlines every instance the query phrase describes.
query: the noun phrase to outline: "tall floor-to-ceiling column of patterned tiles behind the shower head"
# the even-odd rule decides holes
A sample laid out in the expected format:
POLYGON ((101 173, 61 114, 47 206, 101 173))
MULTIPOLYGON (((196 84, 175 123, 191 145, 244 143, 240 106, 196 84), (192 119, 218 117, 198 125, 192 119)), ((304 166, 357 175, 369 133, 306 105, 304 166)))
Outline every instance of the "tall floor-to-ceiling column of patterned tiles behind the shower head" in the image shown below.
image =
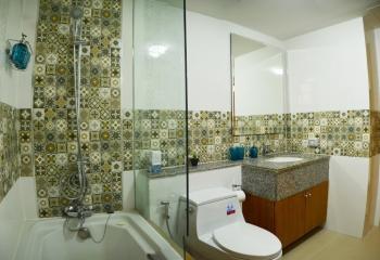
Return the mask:
MULTIPOLYGON (((40 0, 31 113, 40 217, 60 216, 60 183, 76 171, 71 10, 84 8, 80 140, 88 158, 86 204, 122 208, 121 0, 40 0)), ((25 158, 26 159, 26 158, 25 158)), ((27 159, 26 159, 27 160, 27 159)))

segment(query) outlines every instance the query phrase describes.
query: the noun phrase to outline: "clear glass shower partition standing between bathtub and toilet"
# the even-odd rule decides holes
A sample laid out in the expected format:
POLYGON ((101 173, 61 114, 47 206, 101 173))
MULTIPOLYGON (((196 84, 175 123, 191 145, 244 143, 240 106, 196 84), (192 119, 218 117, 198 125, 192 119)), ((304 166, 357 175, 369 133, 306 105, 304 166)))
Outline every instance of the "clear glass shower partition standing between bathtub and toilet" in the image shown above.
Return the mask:
POLYGON ((136 208, 182 247, 187 229, 183 0, 134 2, 136 208))

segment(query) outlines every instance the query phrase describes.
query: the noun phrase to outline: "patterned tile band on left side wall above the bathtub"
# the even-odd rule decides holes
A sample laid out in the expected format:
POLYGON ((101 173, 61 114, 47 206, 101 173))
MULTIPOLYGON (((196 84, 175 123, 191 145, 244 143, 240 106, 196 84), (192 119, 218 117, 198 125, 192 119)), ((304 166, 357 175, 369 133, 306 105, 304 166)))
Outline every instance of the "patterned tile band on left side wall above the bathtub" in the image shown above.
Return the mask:
POLYGON ((0 202, 20 177, 17 109, 0 103, 0 202))

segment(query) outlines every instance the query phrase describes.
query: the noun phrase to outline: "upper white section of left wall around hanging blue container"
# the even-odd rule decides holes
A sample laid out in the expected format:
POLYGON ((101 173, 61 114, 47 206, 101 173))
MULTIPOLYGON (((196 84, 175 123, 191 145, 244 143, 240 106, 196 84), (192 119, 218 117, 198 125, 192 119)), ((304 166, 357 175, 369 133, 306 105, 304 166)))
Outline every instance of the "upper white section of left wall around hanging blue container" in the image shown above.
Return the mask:
POLYGON ((5 55, 7 40, 27 35, 33 48, 36 39, 38 0, 0 0, 0 102, 14 107, 31 107, 34 56, 26 72, 11 69, 5 55))

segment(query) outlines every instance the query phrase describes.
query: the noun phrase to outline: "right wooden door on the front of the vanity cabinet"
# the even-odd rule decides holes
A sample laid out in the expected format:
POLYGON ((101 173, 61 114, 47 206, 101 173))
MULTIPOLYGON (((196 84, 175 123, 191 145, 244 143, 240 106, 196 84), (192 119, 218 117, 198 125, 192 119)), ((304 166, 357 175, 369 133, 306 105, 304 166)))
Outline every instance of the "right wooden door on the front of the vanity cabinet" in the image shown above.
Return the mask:
POLYGON ((305 192, 305 233, 326 222, 328 187, 328 182, 322 182, 305 192))

